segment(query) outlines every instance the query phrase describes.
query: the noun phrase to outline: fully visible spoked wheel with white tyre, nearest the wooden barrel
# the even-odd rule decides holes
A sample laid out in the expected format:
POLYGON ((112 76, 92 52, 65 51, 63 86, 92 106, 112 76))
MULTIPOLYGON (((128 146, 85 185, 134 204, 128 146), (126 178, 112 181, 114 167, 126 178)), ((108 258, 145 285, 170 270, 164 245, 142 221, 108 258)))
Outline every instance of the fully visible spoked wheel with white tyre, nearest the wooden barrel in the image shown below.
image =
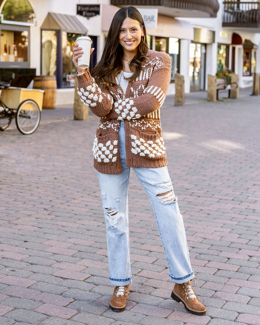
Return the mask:
POLYGON ((18 106, 15 122, 22 134, 33 133, 40 124, 40 108, 33 100, 25 100, 18 106))

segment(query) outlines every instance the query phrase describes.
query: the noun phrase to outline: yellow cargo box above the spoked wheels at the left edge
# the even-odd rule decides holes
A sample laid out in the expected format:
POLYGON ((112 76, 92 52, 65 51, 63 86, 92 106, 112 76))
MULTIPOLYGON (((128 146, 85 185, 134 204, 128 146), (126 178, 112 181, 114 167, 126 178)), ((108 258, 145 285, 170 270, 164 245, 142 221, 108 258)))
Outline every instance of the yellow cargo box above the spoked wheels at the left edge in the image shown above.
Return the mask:
POLYGON ((29 88, 9 87, 2 89, 1 101, 9 108, 17 109, 21 102, 30 99, 37 102, 40 110, 42 109, 44 90, 29 88))

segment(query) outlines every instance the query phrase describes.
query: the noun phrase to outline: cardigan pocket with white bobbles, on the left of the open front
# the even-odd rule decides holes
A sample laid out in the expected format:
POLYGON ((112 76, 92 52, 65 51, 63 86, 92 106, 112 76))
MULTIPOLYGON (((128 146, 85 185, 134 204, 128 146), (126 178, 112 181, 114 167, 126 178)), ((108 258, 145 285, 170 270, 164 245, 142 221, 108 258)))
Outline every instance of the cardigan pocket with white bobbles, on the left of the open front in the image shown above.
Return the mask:
POLYGON ((118 140, 111 140, 111 134, 101 135, 98 131, 92 151, 98 163, 115 163, 118 157, 118 140))

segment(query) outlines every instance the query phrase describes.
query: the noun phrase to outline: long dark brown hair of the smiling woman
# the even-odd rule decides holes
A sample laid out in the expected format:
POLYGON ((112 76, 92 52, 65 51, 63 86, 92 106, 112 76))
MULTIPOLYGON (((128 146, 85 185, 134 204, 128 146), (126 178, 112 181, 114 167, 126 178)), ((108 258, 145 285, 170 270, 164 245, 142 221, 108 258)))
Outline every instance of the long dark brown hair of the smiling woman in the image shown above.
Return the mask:
POLYGON ((144 35, 141 37, 138 53, 129 62, 129 68, 133 72, 132 77, 128 78, 129 81, 134 81, 139 76, 142 61, 147 59, 146 53, 149 47, 146 41, 144 21, 140 12, 132 6, 121 8, 116 12, 111 22, 101 59, 91 72, 91 75, 99 84, 116 84, 116 76, 123 69, 123 48, 119 43, 119 32, 123 20, 128 17, 139 21, 144 35))

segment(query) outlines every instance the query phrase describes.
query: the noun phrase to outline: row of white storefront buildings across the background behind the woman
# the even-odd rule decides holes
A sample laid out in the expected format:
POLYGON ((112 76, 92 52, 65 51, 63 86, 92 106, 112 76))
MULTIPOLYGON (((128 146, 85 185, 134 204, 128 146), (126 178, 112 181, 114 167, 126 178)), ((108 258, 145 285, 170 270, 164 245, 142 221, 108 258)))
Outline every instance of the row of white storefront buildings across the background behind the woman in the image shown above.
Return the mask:
POLYGON ((100 59, 112 17, 134 5, 146 22, 151 49, 172 60, 168 94, 175 74, 184 76, 185 92, 207 89, 207 75, 239 75, 240 87, 252 86, 260 72, 260 2, 218 0, 0 0, 0 75, 16 73, 20 86, 35 75, 55 76, 57 104, 74 100, 72 48, 88 35, 100 59), (241 4, 242 3, 242 4, 241 4), (244 4, 246 3, 246 4, 244 4))

